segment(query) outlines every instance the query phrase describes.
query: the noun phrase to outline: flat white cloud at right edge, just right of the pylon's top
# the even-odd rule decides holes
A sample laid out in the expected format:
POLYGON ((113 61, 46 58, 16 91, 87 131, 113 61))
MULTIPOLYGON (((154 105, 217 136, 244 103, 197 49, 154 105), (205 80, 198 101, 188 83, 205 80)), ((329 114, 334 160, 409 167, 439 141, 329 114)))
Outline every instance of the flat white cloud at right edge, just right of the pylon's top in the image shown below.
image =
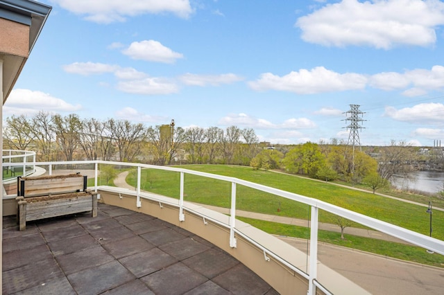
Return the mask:
POLYGON ((409 123, 440 123, 442 125, 444 123, 444 105, 429 102, 399 110, 395 107, 386 107, 384 115, 394 120, 409 123))

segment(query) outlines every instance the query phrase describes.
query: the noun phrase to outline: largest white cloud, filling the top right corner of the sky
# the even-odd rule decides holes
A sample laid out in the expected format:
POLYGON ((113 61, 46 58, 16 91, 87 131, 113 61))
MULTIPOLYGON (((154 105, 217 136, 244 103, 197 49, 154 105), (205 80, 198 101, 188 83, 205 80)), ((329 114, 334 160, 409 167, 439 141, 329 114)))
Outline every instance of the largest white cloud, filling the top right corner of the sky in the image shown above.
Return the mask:
POLYGON ((430 46, 436 42, 436 26, 443 24, 444 3, 438 0, 343 0, 300 17, 295 26, 302 39, 314 44, 389 49, 430 46))

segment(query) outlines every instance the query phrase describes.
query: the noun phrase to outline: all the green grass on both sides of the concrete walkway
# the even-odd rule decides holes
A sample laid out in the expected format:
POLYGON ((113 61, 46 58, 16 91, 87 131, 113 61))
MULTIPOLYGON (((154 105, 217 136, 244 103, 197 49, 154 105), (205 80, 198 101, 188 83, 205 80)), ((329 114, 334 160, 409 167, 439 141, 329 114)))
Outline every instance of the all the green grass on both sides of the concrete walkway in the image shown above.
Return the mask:
MULTIPOLYGON (((412 231, 417 231, 425 235, 429 233, 430 215, 425 212, 426 208, 423 206, 373 195, 372 193, 366 193, 360 190, 336 186, 323 181, 305 179, 296 177, 295 175, 285 175, 271 171, 253 170, 253 168, 244 166, 187 165, 177 167, 236 177, 273 188, 287 190, 299 195, 314 197, 343 208, 348 208, 352 211, 375 217, 379 220, 411 229, 412 231)), ((180 174, 178 172, 143 169, 141 178, 142 190, 178 198, 180 183, 180 174)), ((130 173, 127 181, 129 184, 135 186, 135 173, 130 173)), ((230 194, 231 184, 228 182, 185 174, 184 198, 186 201, 230 208, 230 194)), ((237 185, 236 206, 239 210, 295 217, 305 220, 309 219, 309 206, 305 204, 239 185, 237 185)), ((271 234, 304 239, 309 236, 308 229, 304 225, 294 226, 264 220, 238 218, 271 234)), ((335 224, 334 216, 325 211, 320 211, 319 220, 320 222, 335 224)), ((444 231, 440 227, 444 224, 443 221, 444 213, 435 210, 433 213, 434 238, 444 239, 444 231)), ((362 227, 359 224, 352 224, 352 226, 362 227)), ((319 231, 319 240, 343 247, 377 253, 382 256, 444 267, 444 256, 439 254, 430 255, 425 249, 420 247, 353 235, 346 235, 346 239, 342 240, 339 233, 332 231, 319 231)))

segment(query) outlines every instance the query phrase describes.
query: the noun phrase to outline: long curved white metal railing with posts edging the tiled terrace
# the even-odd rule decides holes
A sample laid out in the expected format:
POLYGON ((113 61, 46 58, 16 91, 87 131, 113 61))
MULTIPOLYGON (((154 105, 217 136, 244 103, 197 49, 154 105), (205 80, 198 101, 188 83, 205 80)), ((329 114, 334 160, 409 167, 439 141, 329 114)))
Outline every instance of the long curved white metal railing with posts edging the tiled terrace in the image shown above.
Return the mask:
MULTIPOLYGON (((327 202, 320 201, 318 199, 314 199, 311 197, 305 197, 303 195, 298 195, 296 193, 289 193, 284 190, 280 190, 278 188, 271 188, 268 186, 263 186, 261 184, 255 184, 250 181, 245 181, 242 179, 237 179, 234 177, 227 177, 222 175, 212 175, 207 172, 199 172, 194 170, 186 170, 183 168, 172 168, 172 167, 166 167, 166 166, 153 166, 153 165, 146 165, 146 164, 139 164, 139 163, 121 163, 121 162, 114 162, 114 161, 69 161, 69 162, 40 162, 35 163, 35 166, 48 166, 48 172, 49 175, 52 174, 53 166, 58 165, 69 165, 69 166, 75 166, 75 165, 85 165, 94 164, 94 173, 95 173, 95 182, 94 182, 94 188, 95 190, 98 190, 98 179, 99 179, 99 164, 106 164, 106 165, 114 165, 114 166, 129 166, 129 167, 135 167, 137 168, 137 187, 135 188, 135 191, 130 192, 135 195, 136 197, 136 206, 140 207, 142 206, 141 198, 150 198, 145 193, 141 192, 141 171, 142 168, 151 168, 151 169, 159 169, 159 170, 168 170, 172 172, 179 172, 180 173, 180 193, 178 196, 178 203, 173 204, 174 206, 178 206, 179 208, 179 220, 184 221, 185 215, 184 210, 189 212, 194 212, 192 208, 188 208, 184 205, 184 179, 185 175, 196 175, 199 177, 207 177, 212 179, 218 179, 221 181, 227 181, 231 184, 231 206, 230 206, 230 221, 229 224, 221 223, 217 220, 214 220, 214 222, 218 222, 222 226, 226 226, 228 229, 230 229, 230 247, 236 247, 237 240, 236 235, 243 236, 247 240, 250 240, 253 244, 256 245, 256 247, 259 247, 259 249, 262 249, 264 251, 264 255, 267 254, 269 256, 273 256, 275 259, 280 260, 284 265, 295 271, 296 273, 300 274, 300 276, 306 278, 309 280, 309 290, 308 294, 316 294, 316 287, 320 288, 321 291, 326 292, 328 294, 327 289, 323 287, 318 281, 317 278, 317 263, 318 263, 318 212, 319 209, 323 211, 327 211, 330 213, 333 213, 334 215, 339 215, 341 217, 344 217, 348 220, 351 220, 353 222, 357 222, 358 224, 362 224, 364 226, 368 226, 371 229, 375 229, 376 231, 381 231, 382 233, 386 233, 387 235, 391 235, 395 238, 399 238, 401 240, 404 240, 406 242, 409 242, 411 244, 415 244, 419 247, 422 247, 424 249, 427 249, 429 251, 434 251, 436 253, 440 253, 444 255, 444 241, 438 240, 436 238, 431 238, 427 235, 422 235, 420 233, 416 233, 414 231, 410 231, 408 229, 404 229, 400 226, 395 226, 393 224, 389 224, 388 222, 383 222, 381 220, 377 220, 373 217, 368 217, 366 215, 356 213, 344 208, 341 208, 339 206, 335 206, 332 204, 329 204, 327 202), (260 190, 265 193, 270 193, 279 197, 284 197, 287 199, 291 199, 294 202, 300 202, 302 204, 307 204, 308 206, 311 206, 311 226, 310 226, 310 239, 309 239, 309 265, 308 269, 309 271, 305 272, 301 269, 298 269, 298 267, 291 265, 287 261, 283 261, 278 255, 275 255, 275 253, 269 251, 268 249, 265 249, 262 247, 262 245, 257 244, 254 240, 250 239, 248 236, 244 235, 239 229, 236 227, 236 188, 237 185, 246 186, 249 188, 253 188, 255 190, 260 190)), ((10 166, 20 166, 24 165, 24 163, 8 163, 10 166)), ((116 190, 119 190, 119 188, 115 188, 116 190)), ((121 189, 122 191, 124 189, 121 189)), ((128 190, 125 190, 126 193, 128 190)), ((200 213, 196 213, 200 214, 200 213)), ((210 217, 203 216, 205 218, 210 219, 210 217)))

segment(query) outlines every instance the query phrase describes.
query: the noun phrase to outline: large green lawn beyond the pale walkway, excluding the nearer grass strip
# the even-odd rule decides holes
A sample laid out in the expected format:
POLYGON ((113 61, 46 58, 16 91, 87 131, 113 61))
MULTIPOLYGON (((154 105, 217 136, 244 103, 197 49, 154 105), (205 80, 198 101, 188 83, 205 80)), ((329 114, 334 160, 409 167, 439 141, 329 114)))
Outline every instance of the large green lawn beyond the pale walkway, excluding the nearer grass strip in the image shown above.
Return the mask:
MULTIPOLYGON (((237 177, 307 197, 314 197, 418 233, 429 234, 429 214, 425 212, 427 208, 421 206, 373 195, 372 193, 335 186, 322 181, 314 181, 271 171, 253 170, 253 168, 244 166, 187 165, 180 167, 237 177)), ((143 169, 143 185, 141 189, 178 198, 179 179, 180 174, 178 172, 143 169)), ((135 185, 134 175, 128 177, 127 181, 129 184, 135 185)), ((229 208, 230 193, 231 185, 228 182, 185 175, 186 201, 229 208)), ((302 219, 309 217, 309 206, 305 204, 262 193, 244 186, 237 186, 236 206, 239 210, 258 213, 302 219)), ((334 217, 324 211, 321 211, 319 220, 320 222, 335 223, 334 217)), ((353 224, 353 226, 361 227, 359 224, 353 224)), ((444 213, 435 210, 433 213, 433 236, 434 238, 444 240, 444 229, 440 226, 444 228, 444 213)))

